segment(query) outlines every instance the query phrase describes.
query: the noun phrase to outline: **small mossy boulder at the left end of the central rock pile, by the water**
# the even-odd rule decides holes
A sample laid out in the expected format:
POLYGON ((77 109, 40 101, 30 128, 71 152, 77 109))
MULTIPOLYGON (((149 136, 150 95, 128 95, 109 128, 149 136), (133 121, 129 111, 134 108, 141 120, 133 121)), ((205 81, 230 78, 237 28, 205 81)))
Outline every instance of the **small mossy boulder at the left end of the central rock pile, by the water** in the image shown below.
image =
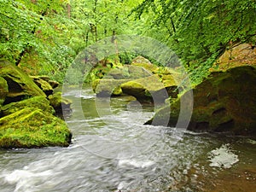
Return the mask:
POLYGON ((128 79, 96 79, 92 82, 92 89, 96 96, 121 96, 123 91, 121 84, 129 81, 128 79))

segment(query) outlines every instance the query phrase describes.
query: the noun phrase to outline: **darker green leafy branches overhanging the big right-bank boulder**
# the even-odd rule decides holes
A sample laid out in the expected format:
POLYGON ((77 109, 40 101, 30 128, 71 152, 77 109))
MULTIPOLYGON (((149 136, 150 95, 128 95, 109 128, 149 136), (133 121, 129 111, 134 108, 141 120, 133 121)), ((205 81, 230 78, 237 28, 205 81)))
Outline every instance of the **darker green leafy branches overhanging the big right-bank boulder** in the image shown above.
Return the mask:
POLYGON ((169 44, 195 76, 207 74, 230 45, 255 44, 254 0, 145 0, 133 9, 138 19, 148 12, 153 15, 149 19, 154 30, 166 29, 150 35, 169 44))

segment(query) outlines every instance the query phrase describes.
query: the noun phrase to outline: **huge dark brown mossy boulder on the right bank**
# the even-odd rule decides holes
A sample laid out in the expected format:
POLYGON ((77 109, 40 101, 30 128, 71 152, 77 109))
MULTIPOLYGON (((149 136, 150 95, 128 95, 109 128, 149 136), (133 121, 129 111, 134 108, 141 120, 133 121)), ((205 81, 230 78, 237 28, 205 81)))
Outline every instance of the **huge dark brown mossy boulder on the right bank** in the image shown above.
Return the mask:
MULTIPOLYGON (((212 73, 193 89, 194 109, 189 130, 256 135, 256 69, 234 67, 212 73)), ((185 96, 185 95, 183 95, 185 96)), ((154 119, 169 119, 176 126, 180 99, 158 111, 154 119), (171 108, 171 113, 170 113, 171 108)), ((151 124, 153 119, 146 124, 151 124)), ((154 122, 161 125, 161 120, 154 122)))

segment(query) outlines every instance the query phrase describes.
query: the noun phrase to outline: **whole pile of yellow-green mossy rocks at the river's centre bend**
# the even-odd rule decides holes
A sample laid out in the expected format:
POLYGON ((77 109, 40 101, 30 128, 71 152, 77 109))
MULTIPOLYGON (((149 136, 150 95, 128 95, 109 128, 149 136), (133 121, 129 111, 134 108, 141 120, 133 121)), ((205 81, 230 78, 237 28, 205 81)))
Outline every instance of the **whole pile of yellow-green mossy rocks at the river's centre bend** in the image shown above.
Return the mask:
POLYGON ((93 79, 96 96, 135 96, 138 100, 164 102, 177 97, 177 77, 180 73, 167 67, 157 67, 143 56, 137 56, 131 65, 108 69, 102 79, 93 79), (154 101, 153 101, 154 100, 154 101))

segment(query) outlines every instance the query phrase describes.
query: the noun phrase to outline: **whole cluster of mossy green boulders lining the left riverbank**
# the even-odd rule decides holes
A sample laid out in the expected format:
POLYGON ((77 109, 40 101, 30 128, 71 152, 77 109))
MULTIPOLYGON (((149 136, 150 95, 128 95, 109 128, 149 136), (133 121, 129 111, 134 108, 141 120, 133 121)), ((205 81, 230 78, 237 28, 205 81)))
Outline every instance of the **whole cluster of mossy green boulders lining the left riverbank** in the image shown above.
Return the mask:
POLYGON ((72 133, 57 118, 70 101, 53 94, 57 82, 29 77, 9 61, 0 61, 0 148, 68 146, 72 133))

